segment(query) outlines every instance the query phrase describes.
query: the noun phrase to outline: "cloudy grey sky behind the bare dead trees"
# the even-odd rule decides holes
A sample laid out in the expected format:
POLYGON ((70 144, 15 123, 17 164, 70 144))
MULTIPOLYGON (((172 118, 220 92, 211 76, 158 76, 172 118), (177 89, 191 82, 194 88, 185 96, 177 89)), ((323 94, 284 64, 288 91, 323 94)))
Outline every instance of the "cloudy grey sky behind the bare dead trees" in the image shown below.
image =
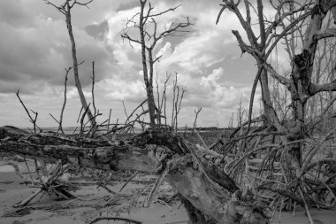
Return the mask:
MULTIPOLYGON (((187 89, 179 115, 179 125, 192 126, 197 107, 202 107, 198 126, 226 126, 240 101, 248 106, 256 74, 253 58, 244 55, 231 30, 238 29, 232 13, 215 21, 220 0, 152 1, 155 12, 182 4, 176 12, 158 19, 164 27, 172 20, 188 16, 195 23, 187 35, 170 37, 157 44, 156 54, 163 58, 156 65, 159 82, 165 73, 178 73, 179 85, 187 89)), ((61 4, 62 1, 54 0, 61 4)), ((145 99, 141 75, 141 50, 123 42, 125 19, 139 11, 138 0, 95 0, 73 9, 73 32, 77 44, 80 81, 91 102, 91 62, 95 61, 95 104, 102 120, 125 120, 126 111, 145 99)), ((39 112, 41 127, 57 126, 63 104, 65 67, 72 66, 69 37, 64 15, 42 0, 0 1, 0 126, 30 126, 15 92, 33 111, 39 112)), ((77 90, 69 73, 65 126, 75 126, 80 111, 77 90)), ((172 84, 168 87, 172 89, 172 84)), ((168 100, 172 100, 172 92, 168 100)), ((258 98, 258 96, 256 97, 258 98)))

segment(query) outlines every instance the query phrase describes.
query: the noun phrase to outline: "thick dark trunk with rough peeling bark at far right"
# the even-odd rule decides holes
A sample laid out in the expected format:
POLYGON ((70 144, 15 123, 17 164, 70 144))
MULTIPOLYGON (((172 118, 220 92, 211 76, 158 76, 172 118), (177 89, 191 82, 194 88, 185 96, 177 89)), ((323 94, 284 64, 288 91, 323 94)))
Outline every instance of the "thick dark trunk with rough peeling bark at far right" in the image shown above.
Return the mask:
MULTIPOLYGON (((312 85, 312 74, 314 59, 316 57, 317 42, 316 35, 321 31, 323 20, 326 12, 330 10, 331 5, 327 5, 324 1, 316 1, 314 8, 311 11, 309 26, 303 36, 302 53, 297 54, 293 58, 293 69, 291 73, 291 86, 289 91, 292 99, 292 126, 289 127, 289 134, 286 140, 297 141, 305 138, 306 125, 306 107, 307 102, 313 94, 310 92, 312 85)), ((332 90, 332 89, 330 89, 332 90)), ((296 167, 302 166, 302 143, 297 143, 291 148, 292 162, 296 167)))

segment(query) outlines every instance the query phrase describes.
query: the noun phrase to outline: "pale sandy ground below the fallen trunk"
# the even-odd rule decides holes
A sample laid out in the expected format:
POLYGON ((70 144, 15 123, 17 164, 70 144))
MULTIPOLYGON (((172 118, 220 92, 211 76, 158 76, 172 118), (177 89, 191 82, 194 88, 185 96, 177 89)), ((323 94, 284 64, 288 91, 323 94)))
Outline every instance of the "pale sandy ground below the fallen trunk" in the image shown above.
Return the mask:
MULTIPOLYGON (((24 165, 20 164, 19 167, 24 172, 24 165)), ((144 196, 139 192, 146 186, 136 182, 129 183, 123 193, 113 199, 112 205, 103 209, 100 205, 103 205, 111 194, 105 189, 97 189, 96 186, 83 186, 73 192, 75 196, 84 199, 59 201, 55 197, 44 195, 40 199, 37 197, 27 208, 14 209, 12 205, 27 198, 36 189, 19 184, 21 180, 13 171, 11 166, 0 166, 0 224, 88 223, 100 214, 111 217, 118 215, 148 224, 187 223, 186 210, 179 201, 175 201, 170 206, 156 202, 149 208, 142 207, 144 196)), ((123 183, 115 182, 111 189, 118 191, 123 183)), ((170 190, 167 183, 162 187, 161 192, 170 190)), ((336 211, 312 210, 311 214, 313 219, 320 220, 320 223, 336 224, 336 211)), ((96 223, 108 222, 103 220, 96 223)), ((110 221, 109 223, 125 222, 110 221)), ((274 215, 271 223, 305 224, 309 223, 309 220, 303 211, 296 212, 295 216, 292 213, 281 212, 274 215)))

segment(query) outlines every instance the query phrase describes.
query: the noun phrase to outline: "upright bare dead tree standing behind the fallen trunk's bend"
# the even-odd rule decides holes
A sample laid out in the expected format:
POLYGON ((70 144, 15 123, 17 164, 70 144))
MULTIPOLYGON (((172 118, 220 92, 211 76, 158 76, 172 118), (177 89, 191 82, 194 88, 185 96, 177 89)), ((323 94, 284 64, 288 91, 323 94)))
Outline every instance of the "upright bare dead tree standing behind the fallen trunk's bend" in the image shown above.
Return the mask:
POLYGON ((147 103, 149 106, 149 123, 150 126, 153 127, 156 123, 156 116, 159 116, 159 114, 156 114, 158 110, 153 92, 154 65, 162 57, 155 57, 153 55, 156 50, 155 47, 157 42, 164 39, 166 36, 185 34, 188 31, 184 28, 190 27, 192 23, 187 18, 185 22, 172 22, 170 27, 165 28, 164 31, 160 31, 157 26, 156 17, 159 17, 167 12, 174 12, 179 5, 164 12, 153 12, 154 7, 152 7, 150 3, 148 4, 146 12, 146 5, 147 0, 140 0, 140 12, 136 13, 131 19, 126 20, 125 32, 121 35, 121 37, 126 39, 131 46, 132 43, 141 45, 143 80, 145 82, 148 97, 147 103), (128 35, 129 31, 134 29, 139 31, 139 37, 128 35))

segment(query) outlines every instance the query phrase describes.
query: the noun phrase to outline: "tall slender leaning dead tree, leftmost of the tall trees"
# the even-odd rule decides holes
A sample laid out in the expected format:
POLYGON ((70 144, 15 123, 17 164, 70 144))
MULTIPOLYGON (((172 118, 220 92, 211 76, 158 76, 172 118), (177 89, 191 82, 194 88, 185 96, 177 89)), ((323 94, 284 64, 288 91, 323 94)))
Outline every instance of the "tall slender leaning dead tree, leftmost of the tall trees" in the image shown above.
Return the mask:
MULTIPOLYGON (((71 46, 72 46, 72 56, 73 56, 73 76, 74 76, 74 81, 76 84, 76 88, 78 90, 78 94, 80 96, 80 103, 82 108, 88 108, 88 103, 87 100, 84 96, 83 90, 81 89, 81 84, 80 84, 80 75, 78 71, 78 66, 81 64, 78 63, 77 59, 77 51, 76 51, 76 42, 74 40, 73 36, 73 24, 72 24, 72 14, 71 11, 75 5, 80 5, 80 6, 86 6, 88 7, 88 4, 90 4, 93 0, 88 1, 87 3, 80 3, 77 0, 65 0, 64 4, 61 4, 57 6, 56 4, 51 3, 50 1, 43 0, 46 4, 50 4, 53 7, 57 9, 58 12, 61 12, 62 14, 65 15, 65 22, 66 22, 66 28, 68 30, 71 46)), ((88 108, 88 120, 91 122, 91 126, 95 127, 95 117, 92 114, 91 110, 88 108)))

